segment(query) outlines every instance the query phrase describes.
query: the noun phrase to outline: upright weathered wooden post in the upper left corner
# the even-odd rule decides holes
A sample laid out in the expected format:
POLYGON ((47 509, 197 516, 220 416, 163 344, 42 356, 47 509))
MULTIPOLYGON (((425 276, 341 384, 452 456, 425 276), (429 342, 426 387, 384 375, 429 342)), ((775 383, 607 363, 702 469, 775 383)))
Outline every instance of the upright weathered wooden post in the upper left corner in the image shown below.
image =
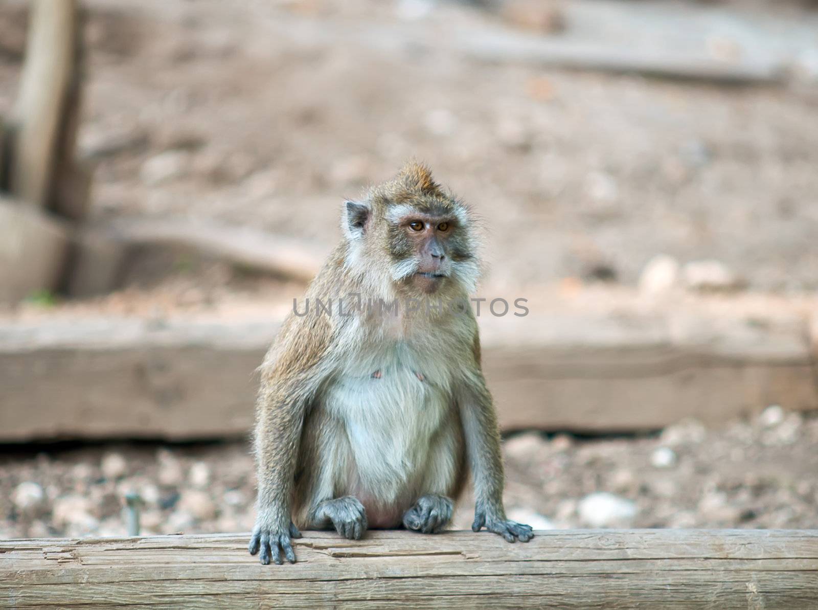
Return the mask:
POLYGON ((44 208, 52 188, 66 96, 75 73, 76 0, 35 0, 29 41, 11 118, 16 124, 11 193, 44 208))

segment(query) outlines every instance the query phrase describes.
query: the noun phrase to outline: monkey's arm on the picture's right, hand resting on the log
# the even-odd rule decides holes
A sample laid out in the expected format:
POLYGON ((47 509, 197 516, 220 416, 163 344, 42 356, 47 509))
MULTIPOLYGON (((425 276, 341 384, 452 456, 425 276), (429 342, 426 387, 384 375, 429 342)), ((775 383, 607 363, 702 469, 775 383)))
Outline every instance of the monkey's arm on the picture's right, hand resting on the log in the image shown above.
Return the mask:
POLYGON ((500 451, 500 428, 492 395, 480 368, 480 343, 475 324, 474 364, 456 390, 465 436, 466 457, 474 483, 474 523, 479 532, 486 527, 508 542, 528 542, 532 528, 506 519, 503 509, 503 463, 500 451))

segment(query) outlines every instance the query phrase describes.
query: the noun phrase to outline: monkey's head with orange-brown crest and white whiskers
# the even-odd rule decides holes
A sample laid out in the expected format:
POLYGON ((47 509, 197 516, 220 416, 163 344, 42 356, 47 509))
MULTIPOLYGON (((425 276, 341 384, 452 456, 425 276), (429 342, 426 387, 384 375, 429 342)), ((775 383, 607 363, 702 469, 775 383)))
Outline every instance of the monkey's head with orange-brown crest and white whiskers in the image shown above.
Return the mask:
POLYGON ((347 267, 376 293, 456 298, 474 291, 480 262, 470 211, 429 168, 407 164, 362 200, 346 201, 342 216, 347 267))

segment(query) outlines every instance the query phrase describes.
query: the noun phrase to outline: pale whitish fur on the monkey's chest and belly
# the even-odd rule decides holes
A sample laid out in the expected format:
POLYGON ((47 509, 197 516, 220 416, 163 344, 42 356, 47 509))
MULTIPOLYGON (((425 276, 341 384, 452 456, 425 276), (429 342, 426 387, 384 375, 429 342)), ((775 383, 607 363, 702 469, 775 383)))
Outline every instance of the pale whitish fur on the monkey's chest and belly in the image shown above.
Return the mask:
POLYGON ((434 439, 455 408, 449 343, 370 338, 349 350, 326 388, 325 407, 347 432, 357 479, 350 485, 359 493, 389 502, 424 476, 434 439))

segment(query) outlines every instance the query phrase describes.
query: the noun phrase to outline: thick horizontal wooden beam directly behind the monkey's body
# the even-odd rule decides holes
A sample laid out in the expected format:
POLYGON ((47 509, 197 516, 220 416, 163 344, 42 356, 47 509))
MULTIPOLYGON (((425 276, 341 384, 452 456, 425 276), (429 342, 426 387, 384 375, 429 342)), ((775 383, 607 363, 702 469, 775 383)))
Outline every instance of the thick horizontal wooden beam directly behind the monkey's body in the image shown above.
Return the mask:
MULTIPOLYGON (((0 322, 0 440, 244 437, 254 371, 278 326, 270 312, 282 307, 0 322)), ((678 324, 638 320, 482 317, 501 427, 631 432, 685 417, 720 424, 771 404, 818 406, 806 321, 691 321, 694 340, 667 330, 678 324)))

